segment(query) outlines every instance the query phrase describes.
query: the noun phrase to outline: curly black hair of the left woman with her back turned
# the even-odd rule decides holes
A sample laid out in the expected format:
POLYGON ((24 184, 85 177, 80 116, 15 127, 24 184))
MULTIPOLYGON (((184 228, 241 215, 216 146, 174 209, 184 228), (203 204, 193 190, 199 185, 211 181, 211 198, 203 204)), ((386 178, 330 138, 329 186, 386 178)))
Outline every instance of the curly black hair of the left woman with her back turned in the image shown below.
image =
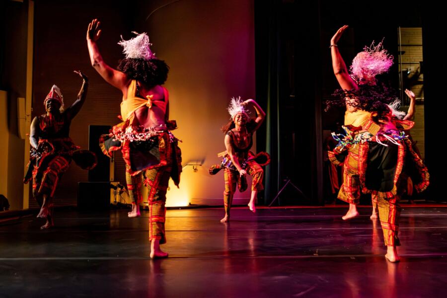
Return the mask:
POLYGON ((164 84, 169 72, 167 64, 163 60, 158 59, 126 58, 120 60, 117 69, 129 78, 144 83, 149 88, 164 84))

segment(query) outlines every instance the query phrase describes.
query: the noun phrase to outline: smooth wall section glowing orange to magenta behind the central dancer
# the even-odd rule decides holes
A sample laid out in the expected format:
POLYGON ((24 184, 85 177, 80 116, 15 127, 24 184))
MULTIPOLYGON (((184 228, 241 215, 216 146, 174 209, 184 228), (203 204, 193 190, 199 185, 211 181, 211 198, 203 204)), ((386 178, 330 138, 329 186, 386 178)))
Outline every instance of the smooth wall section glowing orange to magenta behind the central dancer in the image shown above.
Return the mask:
MULTIPOLYGON (((153 51, 170 66, 170 118, 177 120, 174 134, 183 140, 183 165, 202 164, 197 171, 184 167, 180 189, 171 183, 168 206, 223 204, 223 171, 211 176, 208 168, 220 162, 217 153, 225 149, 220 128, 229 120, 229 99, 255 96, 253 11, 250 0, 178 1, 141 24, 153 51)), ((249 191, 234 198, 235 204, 246 200, 249 191)))

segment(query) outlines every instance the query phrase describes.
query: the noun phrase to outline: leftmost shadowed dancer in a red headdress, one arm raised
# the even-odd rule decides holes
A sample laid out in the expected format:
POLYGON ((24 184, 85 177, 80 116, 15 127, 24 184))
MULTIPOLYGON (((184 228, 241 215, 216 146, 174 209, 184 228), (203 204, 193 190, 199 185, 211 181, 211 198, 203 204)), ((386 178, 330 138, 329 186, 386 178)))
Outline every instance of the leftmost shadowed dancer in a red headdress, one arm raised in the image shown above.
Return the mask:
POLYGON ((54 225, 54 192, 72 159, 83 169, 91 169, 96 165, 96 155, 87 150, 77 150, 79 148, 69 136, 70 124, 84 104, 88 89, 87 76, 80 71, 74 73, 82 78, 76 101, 64 109, 61 90, 53 85, 44 101, 47 113, 35 117, 31 123, 30 163, 24 182, 33 180, 33 197, 41 207, 37 217, 47 220, 41 229, 54 225))

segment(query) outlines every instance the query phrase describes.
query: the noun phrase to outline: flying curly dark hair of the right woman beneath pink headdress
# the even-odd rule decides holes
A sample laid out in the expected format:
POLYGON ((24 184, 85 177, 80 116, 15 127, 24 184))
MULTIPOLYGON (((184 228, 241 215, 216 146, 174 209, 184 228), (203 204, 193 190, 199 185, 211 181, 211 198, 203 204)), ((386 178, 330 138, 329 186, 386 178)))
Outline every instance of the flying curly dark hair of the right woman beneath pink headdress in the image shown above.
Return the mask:
POLYGON ((350 103, 351 106, 368 112, 377 112, 378 118, 381 119, 389 113, 388 104, 396 99, 397 92, 393 88, 379 83, 377 85, 360 85, 358 90, 337 89, 332 95, 335 98, 326 100, 325 111, 331 107, 346 106, 345 98, 349 97, 356 99, 350 103))

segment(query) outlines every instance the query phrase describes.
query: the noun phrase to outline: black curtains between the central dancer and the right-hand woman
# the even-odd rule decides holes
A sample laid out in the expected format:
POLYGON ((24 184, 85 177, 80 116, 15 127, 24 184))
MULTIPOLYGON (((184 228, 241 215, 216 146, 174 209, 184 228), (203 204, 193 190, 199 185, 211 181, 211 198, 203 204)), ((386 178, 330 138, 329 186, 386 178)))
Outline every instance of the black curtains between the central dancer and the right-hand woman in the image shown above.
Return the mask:
POLYGON ((256 98, 267 113, 257 148, 272 157, 266 204, 288 179, 304 196, 288 187, 282 204, 323 202, 319 7, 311 2, 255 2, 256 98))

